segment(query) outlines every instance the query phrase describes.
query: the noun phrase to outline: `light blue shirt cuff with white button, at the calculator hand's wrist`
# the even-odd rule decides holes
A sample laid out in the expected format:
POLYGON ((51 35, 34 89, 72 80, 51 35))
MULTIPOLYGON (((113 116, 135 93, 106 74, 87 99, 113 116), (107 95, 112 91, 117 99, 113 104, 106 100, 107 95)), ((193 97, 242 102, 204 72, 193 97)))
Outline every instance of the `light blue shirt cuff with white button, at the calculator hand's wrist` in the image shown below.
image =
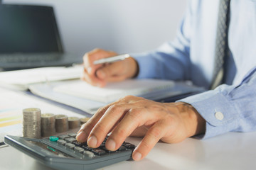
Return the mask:
POLYGON ((238 110, 220 91, 206 91, 179 100, 196 108, 206 120, 206 133, 199 138, 209 138, 238 128, 238 110))

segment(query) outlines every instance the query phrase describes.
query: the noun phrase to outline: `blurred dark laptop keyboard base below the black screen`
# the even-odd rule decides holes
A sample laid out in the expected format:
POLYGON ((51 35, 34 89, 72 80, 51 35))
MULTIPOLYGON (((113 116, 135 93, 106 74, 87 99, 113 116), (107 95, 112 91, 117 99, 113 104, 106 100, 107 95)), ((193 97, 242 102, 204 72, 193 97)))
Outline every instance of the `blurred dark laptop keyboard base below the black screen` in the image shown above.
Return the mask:
POLYGON ((36 53, 36 54, 11 54, 0 55, 0 62, 2 63, 17 63, 17 62, 50 62, 59 60, 62 54, 53 53, 36 53))

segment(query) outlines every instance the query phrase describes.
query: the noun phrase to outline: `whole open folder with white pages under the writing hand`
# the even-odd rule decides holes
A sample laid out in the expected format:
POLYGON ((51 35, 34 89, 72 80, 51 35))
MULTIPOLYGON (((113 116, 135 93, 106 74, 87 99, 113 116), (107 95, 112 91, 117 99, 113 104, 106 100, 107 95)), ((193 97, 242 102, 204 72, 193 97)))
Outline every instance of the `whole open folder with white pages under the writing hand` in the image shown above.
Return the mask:
POLYGON ((174 101, 178 96, 199 93, 203 89, 186 82, 138 79, 108 84, 105 88, 91 86, 85 81, 54 81, 47 84, 33 84, 30 91, 51 101, 57 101, 89 114, 127 95, 142 96, 153 101, 174 101), (110 96, 110 98, 108 98, 110 96))

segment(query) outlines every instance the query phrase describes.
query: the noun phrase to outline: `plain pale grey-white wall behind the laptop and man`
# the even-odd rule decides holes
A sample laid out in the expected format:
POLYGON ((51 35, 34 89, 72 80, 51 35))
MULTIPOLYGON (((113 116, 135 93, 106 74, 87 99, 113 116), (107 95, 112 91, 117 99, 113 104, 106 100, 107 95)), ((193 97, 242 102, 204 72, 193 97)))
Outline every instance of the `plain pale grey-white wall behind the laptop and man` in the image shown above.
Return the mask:
POLYGON ((174 39, 186 0, 3 0, 54 6, 66 52, 144 52, 174 39))

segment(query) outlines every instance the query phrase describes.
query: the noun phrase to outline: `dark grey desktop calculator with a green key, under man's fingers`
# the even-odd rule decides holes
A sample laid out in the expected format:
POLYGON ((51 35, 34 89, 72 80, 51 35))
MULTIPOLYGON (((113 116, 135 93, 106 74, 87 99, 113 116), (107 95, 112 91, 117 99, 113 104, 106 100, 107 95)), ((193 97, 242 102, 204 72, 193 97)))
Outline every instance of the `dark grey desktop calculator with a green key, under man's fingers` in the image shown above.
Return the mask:
POLYGON ((125 160, 132 160, 135 145, 124 142, 117 151, 107 150, 105 138, 97 148, 75 140, 76 133, 31 139, 6 135, 4 142, 53 169, 99 169, 125 160))

